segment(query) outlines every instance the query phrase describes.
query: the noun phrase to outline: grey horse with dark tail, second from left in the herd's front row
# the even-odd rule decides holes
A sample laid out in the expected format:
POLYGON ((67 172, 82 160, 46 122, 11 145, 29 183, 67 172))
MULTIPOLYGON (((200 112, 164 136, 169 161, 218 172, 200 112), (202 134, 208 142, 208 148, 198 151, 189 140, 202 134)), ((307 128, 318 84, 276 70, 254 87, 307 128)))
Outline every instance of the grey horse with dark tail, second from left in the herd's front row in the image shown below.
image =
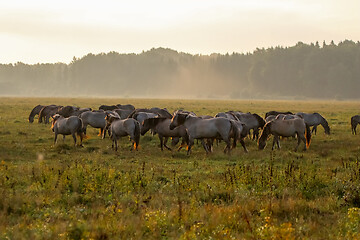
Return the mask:
POLYGON ((115 148, 115 151, 118 149, 118 139, 125 136, 130 136, 134 149, 138 149, 140 142, 140 123, 138 121, 133 118, 120 119, 119 116, 109 113, 107 113, 105 121, 109 125, 110 138, 113 141, 112 148, 115 148))

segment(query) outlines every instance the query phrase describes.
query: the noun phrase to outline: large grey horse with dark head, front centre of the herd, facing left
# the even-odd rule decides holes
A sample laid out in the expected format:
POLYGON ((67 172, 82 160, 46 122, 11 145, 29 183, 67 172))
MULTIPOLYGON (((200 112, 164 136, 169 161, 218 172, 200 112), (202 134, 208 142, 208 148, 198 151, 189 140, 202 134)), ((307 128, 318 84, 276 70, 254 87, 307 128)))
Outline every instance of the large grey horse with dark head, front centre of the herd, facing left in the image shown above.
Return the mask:
MULTIPOLYGON (((226 118, 201 119, 190 114, 177 113, 171 119, 170 130, 173 130, 175 127, 181 125, 186 128, 189 135, 188 155, 191 153, 191 147, 194 145, 194 139, 220 138, 226 143, 224 153, 230 153, 230 138, 233 135, 238 135, 238 133, 236 133, 238 128, 235 123, 226 118)), ((206 144, 204 145, 204 141, 202 141, 202 143, 206 153, 209 153, 210 151, 208 146, 206 146, 206 144)))

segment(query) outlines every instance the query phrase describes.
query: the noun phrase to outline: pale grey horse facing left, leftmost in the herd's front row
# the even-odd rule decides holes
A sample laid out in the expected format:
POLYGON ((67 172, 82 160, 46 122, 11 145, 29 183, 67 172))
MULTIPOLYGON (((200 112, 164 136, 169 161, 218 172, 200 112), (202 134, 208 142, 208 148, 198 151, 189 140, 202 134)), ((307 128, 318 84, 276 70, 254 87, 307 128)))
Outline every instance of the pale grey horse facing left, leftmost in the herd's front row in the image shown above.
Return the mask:
POLYGON ((80 146, 82 146, 82 140, 85 137, 82 128, 82 120, 76 116, 64 118, 59 114, 53 116, 51 129, 55 133, 54 145, 56 144, 57 135, 62 134, 63 140, 66 135, 72 135, 74 139, 74 146, 76 146, 75 133, 80 137, 80 146))

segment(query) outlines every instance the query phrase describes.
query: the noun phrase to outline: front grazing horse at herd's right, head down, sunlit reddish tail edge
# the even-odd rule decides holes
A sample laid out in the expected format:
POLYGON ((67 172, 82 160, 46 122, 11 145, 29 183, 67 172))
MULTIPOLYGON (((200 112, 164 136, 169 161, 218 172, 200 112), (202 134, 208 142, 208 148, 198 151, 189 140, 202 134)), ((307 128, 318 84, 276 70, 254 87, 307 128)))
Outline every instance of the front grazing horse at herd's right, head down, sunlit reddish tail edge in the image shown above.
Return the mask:
POLYGON ((280 149, 279 137, 293 137, 297 136, 298 144, 295 148, 297 151, 301 141, 304 142, 304 151, 310 146, 311 131, 304 119, 289 119, 289 120, 273 120, 265 124, 264 130, 259 138, 259 149, 262 150, 266 146, 266 140, 269 135, 274 135, 272 150, 274 150, 275 143, 280 149))

